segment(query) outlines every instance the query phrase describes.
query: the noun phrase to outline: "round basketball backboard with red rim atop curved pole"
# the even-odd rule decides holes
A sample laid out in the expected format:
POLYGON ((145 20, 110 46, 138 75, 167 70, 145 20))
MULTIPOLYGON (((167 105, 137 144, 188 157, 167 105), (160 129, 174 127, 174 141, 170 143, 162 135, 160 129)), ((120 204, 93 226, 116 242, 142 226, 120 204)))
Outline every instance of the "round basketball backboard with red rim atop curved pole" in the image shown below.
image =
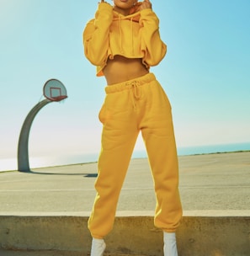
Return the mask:
POLYGON ((45 98, 51 101, 58 102, 67 98, 65 86, 57 79, 48 80, 44 85, 43 93, 45 98))

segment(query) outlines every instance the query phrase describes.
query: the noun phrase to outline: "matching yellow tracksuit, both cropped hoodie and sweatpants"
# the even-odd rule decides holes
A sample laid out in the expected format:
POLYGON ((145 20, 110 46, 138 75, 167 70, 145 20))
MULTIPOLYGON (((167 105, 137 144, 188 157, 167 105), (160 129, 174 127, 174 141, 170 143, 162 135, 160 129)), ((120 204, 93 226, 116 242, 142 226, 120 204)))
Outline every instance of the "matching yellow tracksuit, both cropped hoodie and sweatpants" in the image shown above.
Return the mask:
MULTIPOLYGON (((107 59, 115 55, 141 58, 149 68, 157 65, 167 51, 158 32, 157 16, 151 9, 122 16, 108 3, 99 3, 95 19, 84 29, 83 44, 88 60, 97 66, 98 76, 103 75, 107 59)), ((141 131, 157 196, 155 225, 163 231, 175 232, 182 206, 168 97, 152 73, 109 85, 105 91, 99 113, 103 133, 95 182, 97 195, 88 228, 95 238, 103 238, 112 230, 120 189, 141 131)))

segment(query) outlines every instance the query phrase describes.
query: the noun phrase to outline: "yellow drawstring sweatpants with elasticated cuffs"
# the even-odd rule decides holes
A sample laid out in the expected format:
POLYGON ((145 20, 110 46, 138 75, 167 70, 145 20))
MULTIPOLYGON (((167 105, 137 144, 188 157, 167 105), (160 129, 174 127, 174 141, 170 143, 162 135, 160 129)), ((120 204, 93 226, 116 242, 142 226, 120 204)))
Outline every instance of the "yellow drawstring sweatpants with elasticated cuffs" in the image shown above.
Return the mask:
POLYGON ((152 73, 107 86, 105 91, 99 113, 103 132, 95 182, 97 195, 88 228, 95 238, 103 238, 112 230, 120 190, 141 131, 157 198, 155 226, 175 232, 182 217, 182 205, 168 97, 152 73))

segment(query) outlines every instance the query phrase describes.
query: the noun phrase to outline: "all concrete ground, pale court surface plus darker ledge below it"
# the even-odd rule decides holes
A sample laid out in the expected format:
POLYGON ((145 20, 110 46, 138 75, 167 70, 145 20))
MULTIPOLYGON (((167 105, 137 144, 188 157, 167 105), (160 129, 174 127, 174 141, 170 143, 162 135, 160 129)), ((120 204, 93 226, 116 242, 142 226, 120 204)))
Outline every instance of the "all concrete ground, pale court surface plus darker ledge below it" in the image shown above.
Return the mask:
MULTIPOLYGON (((250 152, 179 157, 179 167, 179 256, 249 256, 250 152)), ((0 255, 88 255, 96 172, 88 163, 0 173, 0 255)), ((133 159, 107 253, 162 255, 154 207, 147 160, 133 159)))

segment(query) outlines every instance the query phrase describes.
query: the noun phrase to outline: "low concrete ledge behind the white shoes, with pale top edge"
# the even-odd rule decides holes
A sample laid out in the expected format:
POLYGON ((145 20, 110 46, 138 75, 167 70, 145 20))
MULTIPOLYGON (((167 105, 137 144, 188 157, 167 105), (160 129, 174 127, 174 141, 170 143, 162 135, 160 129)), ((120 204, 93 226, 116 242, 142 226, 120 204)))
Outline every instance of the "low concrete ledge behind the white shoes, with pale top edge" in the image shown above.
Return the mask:
MULTIPOLYGON (((44 250, 44 255, 87 256, 91 246, 88 216, 88 212, 2 212, 0 248, 2 252, 44 250)), ((249 256, 250 211, 186 211, 177 239, 179 256, 249 256)), ((153 226, 152 212, 118 212, 114 229, 105 240, 107 255, 163 254, 162 232, 153 226)))

